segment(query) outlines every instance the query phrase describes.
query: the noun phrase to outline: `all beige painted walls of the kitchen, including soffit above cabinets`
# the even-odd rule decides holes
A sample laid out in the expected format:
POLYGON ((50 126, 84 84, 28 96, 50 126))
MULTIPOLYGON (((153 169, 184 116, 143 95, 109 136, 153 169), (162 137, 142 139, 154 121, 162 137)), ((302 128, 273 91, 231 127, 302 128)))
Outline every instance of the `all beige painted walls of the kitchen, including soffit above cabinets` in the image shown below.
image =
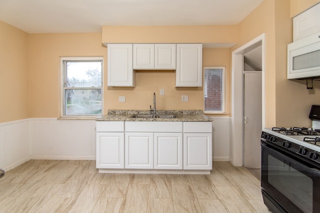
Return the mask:
MULTIPOLYGON (((9 91, 1 94, 0 110, 7 113, 0 122, 60 116, 61 56, 103 56, 106 82, 102 42, 237 43, 230 49, 203 49, 203 66, 226 66, 229 113, 231 52, 265 32, 266 127, 310 126, 307 115, 310 105, 319 103, 320 85, 314 82, 315 89, 306 90, 303 81, 286 80, 286 45, 292 42, 291 17, 316 2, 264 0, 238 25, 223 26, 103 26, 102 33, 27 34, 0 22, 5 32, 0 34, 4 47, 0 49, 0 87, 9 91)), ((135 77, 135 88, 104 88, 105 113, 107 109, 147 109, 153 92, 158 109, 203 109, 202 88, 175 88, 174 72, 136 72, 135 77), (164 96, 159 96, 161 88, 164 96), (125 103, 118 102, 119 95, 126 96, 125 103), (188 95, 189 102, 181 102, 181 95, 188 95)))

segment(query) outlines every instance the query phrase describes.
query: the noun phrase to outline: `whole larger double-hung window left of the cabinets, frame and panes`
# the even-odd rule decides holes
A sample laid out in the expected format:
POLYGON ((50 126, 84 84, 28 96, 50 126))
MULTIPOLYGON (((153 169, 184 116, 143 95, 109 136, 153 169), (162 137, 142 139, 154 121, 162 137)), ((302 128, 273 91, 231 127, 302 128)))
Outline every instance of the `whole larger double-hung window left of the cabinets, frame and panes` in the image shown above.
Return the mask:
POLYGON ((92 117, 103 109, 103 57, 62 57, 62 117, 92 117))

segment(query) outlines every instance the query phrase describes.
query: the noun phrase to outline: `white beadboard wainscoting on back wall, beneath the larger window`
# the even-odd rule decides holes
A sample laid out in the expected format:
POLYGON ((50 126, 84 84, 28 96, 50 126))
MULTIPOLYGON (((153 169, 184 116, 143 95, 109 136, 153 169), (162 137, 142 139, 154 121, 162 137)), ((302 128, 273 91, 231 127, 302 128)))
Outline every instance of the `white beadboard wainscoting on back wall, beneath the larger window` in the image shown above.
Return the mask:
POLYGON ((95 121, 30 119, 31 159, 95 160, 95 121))

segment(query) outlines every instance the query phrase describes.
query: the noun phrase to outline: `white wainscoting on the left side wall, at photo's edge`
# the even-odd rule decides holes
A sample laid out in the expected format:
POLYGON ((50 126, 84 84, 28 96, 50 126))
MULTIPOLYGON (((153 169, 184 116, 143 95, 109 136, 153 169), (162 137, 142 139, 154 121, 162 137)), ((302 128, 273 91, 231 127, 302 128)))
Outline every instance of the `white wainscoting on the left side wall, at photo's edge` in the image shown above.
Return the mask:
POLYGON ((0 123, 0 168, 13 169, 30 160, 29 119, 0 123))

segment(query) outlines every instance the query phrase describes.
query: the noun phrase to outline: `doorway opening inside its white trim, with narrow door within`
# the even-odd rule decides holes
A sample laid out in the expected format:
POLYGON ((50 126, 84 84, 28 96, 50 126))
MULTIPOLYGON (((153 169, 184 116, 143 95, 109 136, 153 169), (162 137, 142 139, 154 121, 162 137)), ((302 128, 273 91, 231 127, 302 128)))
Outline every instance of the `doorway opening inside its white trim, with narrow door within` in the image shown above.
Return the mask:
POLYGON ((262 41, 243 53, 243 166, 260 179, 262 130, 262 41))

